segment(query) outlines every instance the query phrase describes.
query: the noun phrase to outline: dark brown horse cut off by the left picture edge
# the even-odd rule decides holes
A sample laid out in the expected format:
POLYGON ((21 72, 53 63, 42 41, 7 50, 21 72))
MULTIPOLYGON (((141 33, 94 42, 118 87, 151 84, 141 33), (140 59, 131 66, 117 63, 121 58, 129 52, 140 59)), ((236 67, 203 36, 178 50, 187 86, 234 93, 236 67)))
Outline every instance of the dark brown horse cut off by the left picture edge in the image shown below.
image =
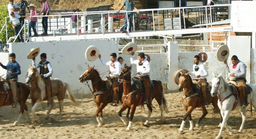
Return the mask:
MULTIPOLYGON (((20 121, 22 114, 24 113, 24 110, 26 111, 26 114, 28 116, 27 121, 29 121, 30 117, 29 117, 29 112, 28 112, 28 106, 25 104, 26 100, 29 97, 29 86, 24 84, 24 83, 20 83, 20 87, 18 87, 17 89, 19 90, 18 92, 20 92, 20 94, 17 95, 17 100, 18 103, 20 104, 20 115, 18 116, 17 120, 13 123, 13 125, 17 125, 17 123, 20 121)), ((9 95, 7 95, 7 93, 10 90, 8 82, 7 81, 0 81, 0 107, 2 106, 8 106, 11 105, 11 99, 8 97, 9 95)))

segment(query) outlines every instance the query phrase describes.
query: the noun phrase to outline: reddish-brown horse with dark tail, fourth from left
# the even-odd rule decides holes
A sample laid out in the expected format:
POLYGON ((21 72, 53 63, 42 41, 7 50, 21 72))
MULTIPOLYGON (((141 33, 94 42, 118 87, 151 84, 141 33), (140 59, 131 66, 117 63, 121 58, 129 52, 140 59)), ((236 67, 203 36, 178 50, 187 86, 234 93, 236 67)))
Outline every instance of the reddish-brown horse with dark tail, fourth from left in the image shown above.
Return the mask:
MULTIPOLYGON (((129 131, 132 128, 132 119, 134 112, 136 110, 136 107, 140 104, 140 101, 142 100, 142 95, 140 90, 136 89, 135 85, 132 84, 133 80, 131 79, 131 67, 132 66, 126 66, 121 70, 120 73, 120 78, 123 79, 123 96, 122 96, 122 101, 123 104, 120 108, 120 111, 118 112, 118 116, 120 116, 121 120, 123 121, 124 125, 128 125, 126 128, 126 131, 129 131), (130 115, 130 121, 128 124, 128 119, 127 117, 122 116, 122 112, 125 111, 125 109, 130 108, 131 109, 131 115, 130 115)), ((165 122, 164 116, 163 116, 163 110, 165 109, 167 111, 167 101, 164 97, 164 92, 163 92, 163 84, 161 81, 157 80, 151 80, 152 81, 152 99, 149 101, 149 104, 147 104, 148 107, 148 119, 144 123, 144 125, 148 125, 150 116, 152 113, 152 100, 155 98, 158 105, 160 106, 161 109, 161 120, 162 122, 165 122)), ((143 105, 143 103, 142 103, 143 105)))

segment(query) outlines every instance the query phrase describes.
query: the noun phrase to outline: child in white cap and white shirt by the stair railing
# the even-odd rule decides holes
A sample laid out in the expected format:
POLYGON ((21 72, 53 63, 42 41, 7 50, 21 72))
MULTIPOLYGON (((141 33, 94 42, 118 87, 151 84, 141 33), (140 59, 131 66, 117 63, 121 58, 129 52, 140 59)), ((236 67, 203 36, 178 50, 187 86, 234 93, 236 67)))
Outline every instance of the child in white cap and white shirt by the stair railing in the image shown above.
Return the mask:
MULTIPOLYGON (((14 32, 16 36, 21 30, 21 23, 20 23, 20 17, 25 17, 25 16, 20 16, 20 15, 15 15, 13 11, 10 12, 10 24, 13 26, 14 32)), ((23 42, 23 34, 22 31, 20 33, 21 38, 18 36, 17 39, 19 42, 23 42)))

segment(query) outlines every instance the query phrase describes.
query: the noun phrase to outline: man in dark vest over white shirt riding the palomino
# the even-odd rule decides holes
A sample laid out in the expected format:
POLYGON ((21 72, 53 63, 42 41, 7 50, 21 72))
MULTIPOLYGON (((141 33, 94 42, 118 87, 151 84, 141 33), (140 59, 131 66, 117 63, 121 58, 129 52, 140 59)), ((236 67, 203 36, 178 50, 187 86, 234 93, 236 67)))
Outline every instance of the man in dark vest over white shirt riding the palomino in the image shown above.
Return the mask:
MULTIPOLYGON (((45 88, 46 88, 46 93, 47 93, 47 105, 50 106, 53 104, 53 98, 52 98, 52 84, 51 84, 51 76, 53 74, 53 68, 50 62, 46 61, 46 54, 42 53, 40 55, 41 61, 39 64, 37 64, 37 68, 40 67, 40 76, 42 79, 45 81, 45 88)), ((32 65, 35 67, 36 66, 36 59, 32 59, 32 65)))

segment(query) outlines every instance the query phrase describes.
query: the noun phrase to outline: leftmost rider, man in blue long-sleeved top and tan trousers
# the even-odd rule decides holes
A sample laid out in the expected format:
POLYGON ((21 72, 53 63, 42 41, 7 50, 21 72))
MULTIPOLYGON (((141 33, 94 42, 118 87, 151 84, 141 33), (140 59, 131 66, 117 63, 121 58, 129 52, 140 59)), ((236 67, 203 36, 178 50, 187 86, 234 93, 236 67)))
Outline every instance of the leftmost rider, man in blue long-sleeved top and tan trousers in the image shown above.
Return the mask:
POLYGON ((10 82, 10 88, 11 92, 13 93, 13 108, 16 108, 17 104, 17 81, 18 81, 18 75, 21 74, 21 67, 20 65, 16 62, 16 56, 14 53, 11 53, 9 55, 9 62, 6 66, 4 66, 0 62, 0 66, 7 70, 7 75, 6 79, 10 82))

